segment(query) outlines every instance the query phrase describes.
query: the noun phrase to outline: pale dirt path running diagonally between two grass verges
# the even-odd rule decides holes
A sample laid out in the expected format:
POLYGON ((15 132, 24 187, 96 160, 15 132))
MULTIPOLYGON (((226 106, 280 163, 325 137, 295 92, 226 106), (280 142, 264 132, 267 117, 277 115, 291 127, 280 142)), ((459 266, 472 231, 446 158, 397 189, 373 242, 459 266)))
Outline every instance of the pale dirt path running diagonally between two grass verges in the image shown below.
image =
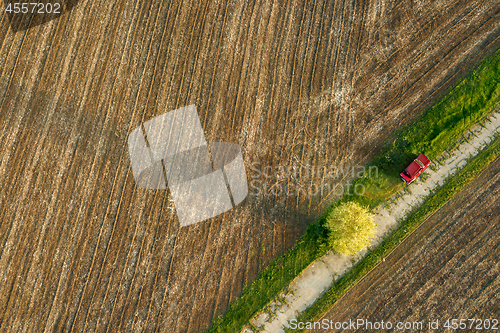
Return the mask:
MULTIPOLYGON (((397 228, 413 209, 422 204, 425 197, 442 186, 445 180, 462 169, 469 158, 477 155, 500 130, 500 112, 494 113, 484 123, 476 125, 466 133, 465 141, 453 152, 445 152, 433 161, 411 187, 399 192, 391 202, 376 209, 377 234, 372 240, 376 247, 391 230, 397 228)), ((250 322, 255 329, 245 327, 242 333, 284 332, 288 322, 311 306, 332 284, 359 262, 366 251, 357 256, 329 253, 307 267, 290 285, 289 292, 277 302, 270 303, 266 310, 257 314, 250 322)))

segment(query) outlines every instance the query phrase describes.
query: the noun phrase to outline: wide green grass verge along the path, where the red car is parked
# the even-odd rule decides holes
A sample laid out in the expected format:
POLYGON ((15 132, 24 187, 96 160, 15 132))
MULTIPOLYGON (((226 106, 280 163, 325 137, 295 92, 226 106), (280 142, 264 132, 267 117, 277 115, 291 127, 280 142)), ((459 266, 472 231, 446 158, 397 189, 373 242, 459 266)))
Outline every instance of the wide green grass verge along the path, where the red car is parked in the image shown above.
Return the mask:
MULTIPOLYGON (((406 164, 421 152, 434 159, 444 148, 452 148, 466 130, 500 102, 499 78, 500 50, 485 59, 368 164, 368 167, 377 167, 379 172, 374 177, 366 175, 358 178, 351 187, 363 185, 366 188, 363 195, 346 193, 329 210, 345 201, 356 201, 374 209, 399 191, 404 185, 399 179, 399 172, 406 164)), ((230 305, 226 314, 214 320, 209 332, 240 331, 258 311, 286 290, 303 269, 326 254, 328 247, 324 221, 323 217, 311 224, 290 251, 263 269, 240 298, 230 305)))

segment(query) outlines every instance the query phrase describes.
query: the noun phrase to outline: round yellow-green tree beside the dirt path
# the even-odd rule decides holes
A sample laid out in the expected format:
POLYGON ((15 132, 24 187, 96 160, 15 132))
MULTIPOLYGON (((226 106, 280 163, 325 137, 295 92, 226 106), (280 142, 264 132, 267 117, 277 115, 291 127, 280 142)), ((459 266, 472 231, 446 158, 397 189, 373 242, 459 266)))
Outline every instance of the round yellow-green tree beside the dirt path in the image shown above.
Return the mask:
POLYGON ((375 235, 373 214, 355 202, 334 208, 326 217, 326 228, 330 246, 345 255, 366 249, 375 235))

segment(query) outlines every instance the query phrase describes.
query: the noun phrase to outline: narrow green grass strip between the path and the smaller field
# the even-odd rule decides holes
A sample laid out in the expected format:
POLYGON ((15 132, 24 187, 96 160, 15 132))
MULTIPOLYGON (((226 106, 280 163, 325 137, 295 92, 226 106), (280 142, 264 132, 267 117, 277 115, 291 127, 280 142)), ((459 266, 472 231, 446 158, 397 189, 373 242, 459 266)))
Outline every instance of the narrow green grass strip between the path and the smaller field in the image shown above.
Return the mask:
MULTIPOLYGON (((348 292, 360 279, 370 272, 382 258, 392 252, 432 213, 441 208, 455 194, 471 183, 491 162, 500 156, 500 140, 495 141, 479 153, 441 189, 431 195, 424 204, 411 214, 397 230, 388 236, 376 249, 366 255, 351 271, 340 278, 320 299, 302 313, 299 322, 312 322, 327 312, 333 304, 348 292)), ((288 329, 288 332, 292 330, 288 329)), ((305 330, 293 330, 293 332, 305 330)))

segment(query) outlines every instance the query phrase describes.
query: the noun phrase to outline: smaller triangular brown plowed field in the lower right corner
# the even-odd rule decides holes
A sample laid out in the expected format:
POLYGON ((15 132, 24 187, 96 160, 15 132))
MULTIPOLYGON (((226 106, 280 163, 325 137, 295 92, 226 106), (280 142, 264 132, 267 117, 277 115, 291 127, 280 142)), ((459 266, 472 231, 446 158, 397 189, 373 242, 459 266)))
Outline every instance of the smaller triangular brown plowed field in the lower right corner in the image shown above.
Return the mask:
MULTIPOLYGON (((491 329, 491 320, 500 320, 499 162, 426 220, 322 319, 424 323, 423 330, 405 332, 456 331, 444 328, 448 319, 465 319, 461 331, 477 332, 485 325, 468 319, 488 319, 491 329), (440 328, 428 329, 436 320, 440 328)), ((367 330, 321 330, 344 331, 367 330)))

